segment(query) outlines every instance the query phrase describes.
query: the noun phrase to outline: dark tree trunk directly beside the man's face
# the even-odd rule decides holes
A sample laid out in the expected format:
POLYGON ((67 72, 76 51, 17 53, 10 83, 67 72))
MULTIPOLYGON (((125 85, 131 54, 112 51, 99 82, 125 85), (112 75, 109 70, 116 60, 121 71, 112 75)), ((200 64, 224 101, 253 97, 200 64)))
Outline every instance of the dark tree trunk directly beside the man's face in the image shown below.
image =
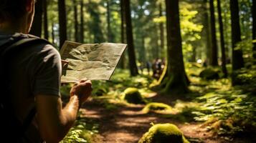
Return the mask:
POLYGON ((35 4, 34 21, 29 33, 39 37, 42 35, 42 0, 35 4))

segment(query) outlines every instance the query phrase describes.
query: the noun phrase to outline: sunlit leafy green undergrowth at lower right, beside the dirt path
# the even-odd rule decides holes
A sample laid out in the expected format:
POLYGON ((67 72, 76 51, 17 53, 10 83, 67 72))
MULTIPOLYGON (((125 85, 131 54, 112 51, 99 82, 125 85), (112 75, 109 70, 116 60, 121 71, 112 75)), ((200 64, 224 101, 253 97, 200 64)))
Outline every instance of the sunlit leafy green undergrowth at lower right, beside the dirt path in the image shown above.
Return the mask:
POLYGON ((198 121, 211 121, 212 127, 218 134, 237 134, 256 129, 255 97, 240 94, 239 91, 208 93, 198 98, 202 108, 193 112, 198 121), (216 129, 217 128, 217 129, 216 129))

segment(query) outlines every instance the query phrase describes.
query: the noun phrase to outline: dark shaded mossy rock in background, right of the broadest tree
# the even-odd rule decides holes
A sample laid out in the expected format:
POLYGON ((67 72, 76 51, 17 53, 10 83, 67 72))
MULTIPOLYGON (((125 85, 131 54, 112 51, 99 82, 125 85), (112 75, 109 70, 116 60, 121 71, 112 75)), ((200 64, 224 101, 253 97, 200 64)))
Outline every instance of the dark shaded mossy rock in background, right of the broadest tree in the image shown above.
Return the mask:
POLYGON ((203 79, 219 79, 219 70, 207 68, 200 72, 199 77, 203 79))

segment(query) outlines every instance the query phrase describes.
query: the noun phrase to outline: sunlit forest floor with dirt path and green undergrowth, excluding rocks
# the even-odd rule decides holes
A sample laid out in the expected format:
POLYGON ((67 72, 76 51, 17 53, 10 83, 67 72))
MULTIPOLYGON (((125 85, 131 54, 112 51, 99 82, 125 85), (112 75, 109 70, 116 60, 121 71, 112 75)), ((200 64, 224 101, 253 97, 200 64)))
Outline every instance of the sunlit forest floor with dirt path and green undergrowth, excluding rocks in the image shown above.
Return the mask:
MULTIPOLYGON (((202 67, 190 64, 187 69, 189 94, 160 95, 151 90, 154 80, 147 74, 130 77, 125 70, 111 81, 93 81, 93 96, 63 142, 136 143, 153 124, 163 123, 175 124, 191 143, 256 142, 256 66, 242 71, 237 87, 230 79, 202 79, 202 67), (126 102, 129 87, 136 87, 146 104, 126 102), (153 102, 169 105, 171 112, 143 111, 153 102)), ((70 86, 62 87, 67 99, 70 86)))

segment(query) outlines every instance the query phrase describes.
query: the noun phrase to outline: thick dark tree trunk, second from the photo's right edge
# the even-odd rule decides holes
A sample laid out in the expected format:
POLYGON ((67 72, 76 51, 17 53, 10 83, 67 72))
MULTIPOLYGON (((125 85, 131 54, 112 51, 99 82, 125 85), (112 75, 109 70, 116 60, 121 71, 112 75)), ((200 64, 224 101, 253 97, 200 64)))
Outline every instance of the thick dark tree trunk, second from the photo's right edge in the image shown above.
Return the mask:
POLYGON ((237 43, 241 41, 240 17, 238 0, 230 0, 231 29, 232 29, 232 70, 244 67, 242 49, 237 49, 237 43))

